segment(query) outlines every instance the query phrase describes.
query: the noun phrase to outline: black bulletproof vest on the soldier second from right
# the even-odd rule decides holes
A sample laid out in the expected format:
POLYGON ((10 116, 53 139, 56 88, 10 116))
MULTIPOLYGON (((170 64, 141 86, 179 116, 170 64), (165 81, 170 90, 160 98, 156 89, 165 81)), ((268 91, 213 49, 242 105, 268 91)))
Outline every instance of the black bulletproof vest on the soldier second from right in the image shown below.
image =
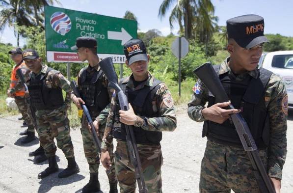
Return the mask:
MULTIPOLYGON (((122 82, 122 81, 121 81, 122 82)), ((160 88, 161 81, 154 79, 153 86, 144 86, 142 89, 131 91, 127 88, 127 83, 121 83, 120 87, 126 94, 129 103, 133 107, 134 113, 148 118, 158 117, 158 112, 153 110, 153 99, 160 88)), ((116 98, 116 111, 114 114, 114 127, 112 135, 114 138, 126 141, 125 125, 119 122, 119 100, 116 98)), ((137 144, 160 144, 162 132, 146 131, 140 127, 133 127, 133 133, 137 144)))

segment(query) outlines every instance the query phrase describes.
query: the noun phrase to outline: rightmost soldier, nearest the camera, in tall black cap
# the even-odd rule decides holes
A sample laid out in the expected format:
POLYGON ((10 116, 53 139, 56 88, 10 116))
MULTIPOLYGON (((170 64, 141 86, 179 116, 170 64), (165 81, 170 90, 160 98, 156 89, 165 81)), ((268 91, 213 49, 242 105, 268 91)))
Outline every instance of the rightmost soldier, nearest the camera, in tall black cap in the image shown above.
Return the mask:
POLYGON ((213 66, 231 102, 216 103, 200 80, 195 84, 188 115, 205 121, 207 146, 201 165, 200 193, 260 193, 248 155, 229 114, 241 113, 259 149, 276 193, 280 193, 287 153, 288 96, 282 80, 258 67, 263 52, 264 19, 245 15, 227 21, 230 57, 213 66), (208 106, 205 107, 206 102, 208 106), (226 110, 230 103, 235 110, 226 110))

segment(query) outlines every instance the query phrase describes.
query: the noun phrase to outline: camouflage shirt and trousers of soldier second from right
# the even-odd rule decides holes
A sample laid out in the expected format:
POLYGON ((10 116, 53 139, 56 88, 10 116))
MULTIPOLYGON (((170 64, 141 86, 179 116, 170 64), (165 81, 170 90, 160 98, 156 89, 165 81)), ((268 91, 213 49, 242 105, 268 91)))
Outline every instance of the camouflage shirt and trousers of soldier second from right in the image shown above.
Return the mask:
MULTIPOLYGON (((154 77, 149 73, 149 78, 140 85, 134 88, 133 76, 123 80, 127 83, 128 89, 139 90, 145 86, 153 86, 154 77)), ((176 115, 173 106, 173 99, 168 87, 164 83, 160 83, 160 88, 157 90, 152 99, 153 110, 159 112, 158 117, 142 117, 139 120, 141 128, 146 131, 174 131, 176 129, 176 115), (143 119, 147 119, 147 125, 143 125, 143 119)), ((116 96, 115 92, 112 96, 109 116, 107 118, 106 130, 102 148, 107 149, 112 144, 113 136, 110 135, 114 123, 114 113, 116 112, 116 96)), ((136 126, 136 125, 134 125, 136 126)), ((142 165, 142 172, 146 187, 149 193, 161 193, 161 165, 162 153, 161 146, 151 144, 137 144, 137 149, 142 165)), ((136 187, 135 171, 131 164, 128 146, 125 141, 117 140, 117 148, 115 151, 115 169, 120 186, 120 193, 134 193, 136 187)))

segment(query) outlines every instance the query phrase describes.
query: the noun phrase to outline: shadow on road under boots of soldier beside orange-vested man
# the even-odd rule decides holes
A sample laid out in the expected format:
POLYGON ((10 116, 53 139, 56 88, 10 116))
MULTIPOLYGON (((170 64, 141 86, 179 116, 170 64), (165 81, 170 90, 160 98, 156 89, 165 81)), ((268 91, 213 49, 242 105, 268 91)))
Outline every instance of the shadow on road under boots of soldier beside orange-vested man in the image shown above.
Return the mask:
POLYGON ((39 184, 39 190, 38 193, 48 193, 53 187, 55 186, 62 186, 62 185, 67 185, 67 184, 72 184, 74 182, 78 182, 85 177, 80 174, 74 174, 72 176, 69 176, 67 178, 58 178, 58 173, 61 171, 59 169, 58 172, 55 172, 51 174, 50 176, 42 179, 39 184))

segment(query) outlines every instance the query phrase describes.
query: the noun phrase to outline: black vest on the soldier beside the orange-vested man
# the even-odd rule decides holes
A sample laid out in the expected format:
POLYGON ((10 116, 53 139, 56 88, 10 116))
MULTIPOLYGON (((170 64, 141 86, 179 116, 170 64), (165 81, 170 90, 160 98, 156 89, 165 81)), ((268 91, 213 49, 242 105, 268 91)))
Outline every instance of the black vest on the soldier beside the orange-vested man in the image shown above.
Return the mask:
POLYGON ((64 104, 62 89, 46 86, 46 78, 51 70, 53 68, 48 67, 45 75, 39 74, 34 79, 29 79, 28 91, 36 110, 53 110, 64 104))

